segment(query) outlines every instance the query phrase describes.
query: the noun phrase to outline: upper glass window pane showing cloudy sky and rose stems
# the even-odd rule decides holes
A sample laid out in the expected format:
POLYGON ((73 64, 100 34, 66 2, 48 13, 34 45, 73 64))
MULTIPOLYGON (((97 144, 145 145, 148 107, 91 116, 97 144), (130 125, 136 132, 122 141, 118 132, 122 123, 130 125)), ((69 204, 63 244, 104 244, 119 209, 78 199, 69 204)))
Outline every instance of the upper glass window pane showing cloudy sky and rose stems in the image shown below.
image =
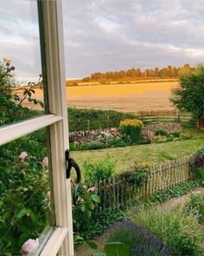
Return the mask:
POLYGON ((0 126, 41 115, 43 86, 37 1, 1 1, 0 126))

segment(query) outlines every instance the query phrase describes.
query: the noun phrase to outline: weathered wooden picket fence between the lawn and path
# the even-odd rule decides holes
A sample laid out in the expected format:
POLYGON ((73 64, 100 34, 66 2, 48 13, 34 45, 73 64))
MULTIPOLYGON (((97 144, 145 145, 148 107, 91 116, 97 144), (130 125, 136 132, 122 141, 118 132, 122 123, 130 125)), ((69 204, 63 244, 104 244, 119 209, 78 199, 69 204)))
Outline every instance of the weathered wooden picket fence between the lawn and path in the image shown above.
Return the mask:
POLYGON ((98 209, 124 208, 136 200, 150 199, 156 191, 169 190, 177 184, 193 180, 194 170, 189 165, 193 156, 190 154, 169 163, 148 167, 147 180, 142 187, 117 177, 95 182, 96 193, 101 200, 98 209))

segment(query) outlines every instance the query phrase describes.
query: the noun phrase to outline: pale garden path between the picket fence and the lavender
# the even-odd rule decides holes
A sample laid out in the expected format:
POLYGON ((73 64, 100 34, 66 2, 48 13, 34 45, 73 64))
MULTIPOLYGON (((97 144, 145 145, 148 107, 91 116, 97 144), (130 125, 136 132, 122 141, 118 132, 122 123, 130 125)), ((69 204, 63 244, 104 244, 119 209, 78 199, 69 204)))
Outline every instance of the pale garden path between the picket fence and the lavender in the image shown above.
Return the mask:
MULTIPOLYGON (((191 194, 204 194, 204 187, 198 187, 194 191, 189 192, 188 194, 184 194, 181 197, 178 198, 173 198, 171 200, 168 200, 164 202, 163 204, 159 205, 164 212, 167 212, 171 210, 172 208, 178 207, 182 205, 183 203, 186 203, 188 200, 190 200, 190 195, 191 194)), ((103 248, 105 245, 105 237, 100 236, 96 240, 92 240, 95 244, 97 244, 98 248, 97 250, 93 250, 92 248, 83 245, 79 246, 75 250, 75 256, 91 256, 92 253, 98 253, 98 252, 103 252, 103 248)))

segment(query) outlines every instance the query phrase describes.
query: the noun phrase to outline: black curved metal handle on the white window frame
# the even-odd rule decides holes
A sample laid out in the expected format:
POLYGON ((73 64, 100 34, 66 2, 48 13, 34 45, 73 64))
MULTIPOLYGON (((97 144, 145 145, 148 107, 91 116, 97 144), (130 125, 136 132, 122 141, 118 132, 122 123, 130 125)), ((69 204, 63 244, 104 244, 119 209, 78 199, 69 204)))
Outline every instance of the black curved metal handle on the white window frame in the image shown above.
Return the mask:
POLYGON ((73 187, 73 203, 74 205, 77 203, 78 195, 77 190, 80 187, 80 181, 81 181, 81 173, 80 173, 80 167, 79 165, 73 160, 73 158, 70 157, 69 149, 65 151, 65 159, 66 159, 66 178, 70 178, 71 169, 72 167, 75 169, 77 179, 76 179, 76 185, 73 187))

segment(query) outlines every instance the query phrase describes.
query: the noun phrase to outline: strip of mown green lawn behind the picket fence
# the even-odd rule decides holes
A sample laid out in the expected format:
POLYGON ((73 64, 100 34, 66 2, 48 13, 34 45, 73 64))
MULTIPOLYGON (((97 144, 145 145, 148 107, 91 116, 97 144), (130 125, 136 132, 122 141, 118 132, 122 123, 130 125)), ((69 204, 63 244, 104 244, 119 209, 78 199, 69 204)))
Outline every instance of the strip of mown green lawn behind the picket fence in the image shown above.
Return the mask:
POLYGON ((160 144, 137 145, 125 148, 105 148, 98 150, 74 151, 71 153, 80 165, 83 173, 83 164, 88 158, 99 160, 109 157, 116 161, 116 171, 121 173, 137 166, 152 166, 164 161, 172 161, 178 157, 194 153, 204 147, 203 134, 194 134, 194 138, 186 141, 171 141, 160 144))

